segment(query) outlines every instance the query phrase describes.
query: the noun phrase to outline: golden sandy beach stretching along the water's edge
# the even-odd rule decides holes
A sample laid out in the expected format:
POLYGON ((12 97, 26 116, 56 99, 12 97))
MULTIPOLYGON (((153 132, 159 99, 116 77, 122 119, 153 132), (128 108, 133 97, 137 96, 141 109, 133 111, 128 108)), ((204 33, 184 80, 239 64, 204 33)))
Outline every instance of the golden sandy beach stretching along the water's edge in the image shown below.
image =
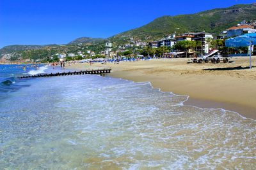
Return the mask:
POLYGON ((119 64, 72 64, 69 69, 111 67, 115 78, 150 81, 165 92, 189 96, 185 104, 201 108, 224 108, 256 120, 256 56, 252 69, 248 57, 234 57, 232 63, 188 64, 189 59, 155 59, 119 64))

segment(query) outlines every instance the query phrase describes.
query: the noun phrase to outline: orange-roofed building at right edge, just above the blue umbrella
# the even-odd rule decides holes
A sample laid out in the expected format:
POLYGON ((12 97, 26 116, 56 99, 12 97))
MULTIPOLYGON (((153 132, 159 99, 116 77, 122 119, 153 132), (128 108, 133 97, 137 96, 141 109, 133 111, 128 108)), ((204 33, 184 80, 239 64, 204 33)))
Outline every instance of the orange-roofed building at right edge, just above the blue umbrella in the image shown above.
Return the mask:
POLYGON ((255 33, 256 29, 252 25, 237 25, 227 29, 227 37, 241 36, 247 33, 255 33))

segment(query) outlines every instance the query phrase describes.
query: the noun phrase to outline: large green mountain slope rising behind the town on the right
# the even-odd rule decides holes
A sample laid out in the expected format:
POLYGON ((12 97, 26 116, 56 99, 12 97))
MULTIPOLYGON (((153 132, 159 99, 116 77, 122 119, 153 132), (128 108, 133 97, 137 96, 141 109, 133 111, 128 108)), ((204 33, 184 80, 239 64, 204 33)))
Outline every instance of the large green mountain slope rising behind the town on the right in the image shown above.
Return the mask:
POLYGON ((220 33, 243 20, 256 19, 256 3, 238 4, 229 8, 218 8, 190 15, 164 16, 156 18, 147 25, 125 31, 111 37, 120 39, 140 39, 143 41, 163 38, 173 32, 210 32, 220 33), (179 28, 179 29, 177 29, 179 28))

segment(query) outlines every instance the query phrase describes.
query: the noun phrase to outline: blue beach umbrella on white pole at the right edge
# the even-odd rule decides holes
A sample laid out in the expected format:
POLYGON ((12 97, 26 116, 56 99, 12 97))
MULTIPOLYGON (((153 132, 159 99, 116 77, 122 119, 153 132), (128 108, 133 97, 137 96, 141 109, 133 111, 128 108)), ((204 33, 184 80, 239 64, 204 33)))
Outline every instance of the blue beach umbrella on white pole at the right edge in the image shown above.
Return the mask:
POLYGON ((252 68, 252 50, 253 45, 256 45, 256 33, 244 34, 243 36, 237 36, 235 38, 229 38, 225 41, 227 47, 241 47, 249 46, 250 50, 250 69, 252 68))

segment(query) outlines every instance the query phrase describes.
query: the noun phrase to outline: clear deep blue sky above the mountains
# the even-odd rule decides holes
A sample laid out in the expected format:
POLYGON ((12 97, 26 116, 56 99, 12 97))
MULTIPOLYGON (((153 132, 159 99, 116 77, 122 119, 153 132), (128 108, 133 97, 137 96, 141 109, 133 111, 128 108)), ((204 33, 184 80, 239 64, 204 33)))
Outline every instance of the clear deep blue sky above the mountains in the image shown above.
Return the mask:
POLYGON ((163 15, 249 4, 256 0, 0 0, 0 48, 108 38, 163 15))

